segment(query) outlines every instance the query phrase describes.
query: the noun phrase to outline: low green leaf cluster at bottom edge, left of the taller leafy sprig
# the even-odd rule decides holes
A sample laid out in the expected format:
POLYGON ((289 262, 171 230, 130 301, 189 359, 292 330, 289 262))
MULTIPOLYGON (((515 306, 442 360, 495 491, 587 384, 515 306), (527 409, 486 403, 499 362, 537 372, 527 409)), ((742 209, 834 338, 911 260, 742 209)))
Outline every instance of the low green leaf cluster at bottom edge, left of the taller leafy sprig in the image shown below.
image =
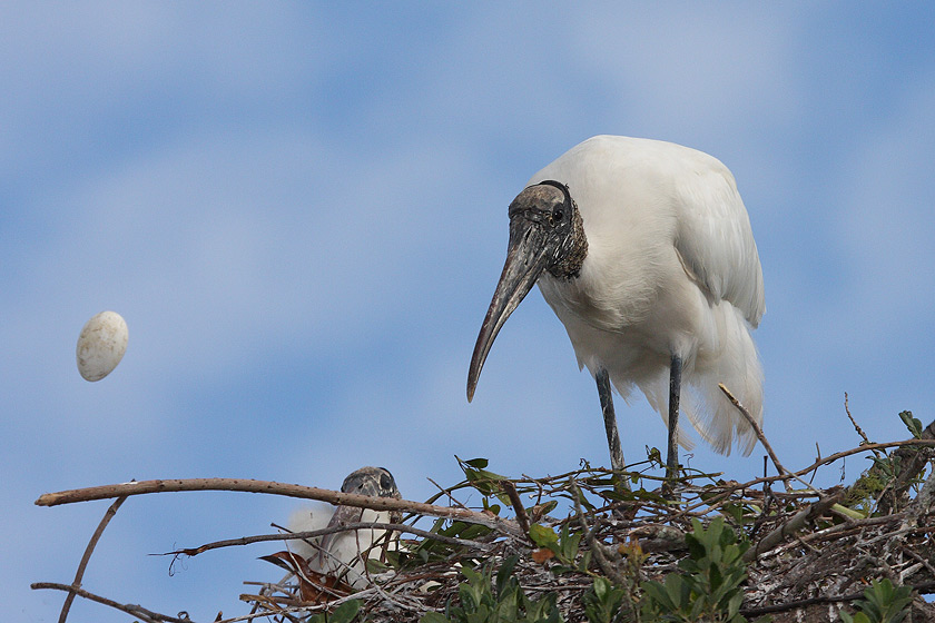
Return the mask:
POLYGON ((561 623, 563 619, 555 606, 555 593, 539 601, 525 595, 513 575, 518 560, 518 556, 510 556, 503 561, 495 583, 492 566, 482 572, 463 567, 461 573, 468 582, 457 591, 461 604, 449 602, 444 615, 430 612, 421 623, 561 623))

